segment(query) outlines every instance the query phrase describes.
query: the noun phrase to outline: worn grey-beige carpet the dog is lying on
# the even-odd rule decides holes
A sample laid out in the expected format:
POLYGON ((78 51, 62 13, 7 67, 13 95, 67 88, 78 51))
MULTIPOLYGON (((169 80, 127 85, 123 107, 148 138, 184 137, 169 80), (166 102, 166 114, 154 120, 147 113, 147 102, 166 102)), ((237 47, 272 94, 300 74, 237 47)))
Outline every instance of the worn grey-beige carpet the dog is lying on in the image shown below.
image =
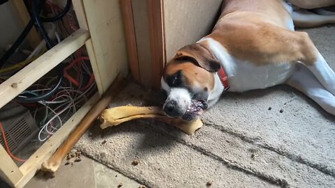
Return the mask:
MULTIPOLYGON (((335 69, 335 26, 306 31, 335 69)), ((131 84, 112 106, 159 101, 131 84)), ((96 125, 76 147, 148 187, 335 187, 335 117, 294 89, 225 94, 202 120, 193 136, 151 120, 96 125)))

